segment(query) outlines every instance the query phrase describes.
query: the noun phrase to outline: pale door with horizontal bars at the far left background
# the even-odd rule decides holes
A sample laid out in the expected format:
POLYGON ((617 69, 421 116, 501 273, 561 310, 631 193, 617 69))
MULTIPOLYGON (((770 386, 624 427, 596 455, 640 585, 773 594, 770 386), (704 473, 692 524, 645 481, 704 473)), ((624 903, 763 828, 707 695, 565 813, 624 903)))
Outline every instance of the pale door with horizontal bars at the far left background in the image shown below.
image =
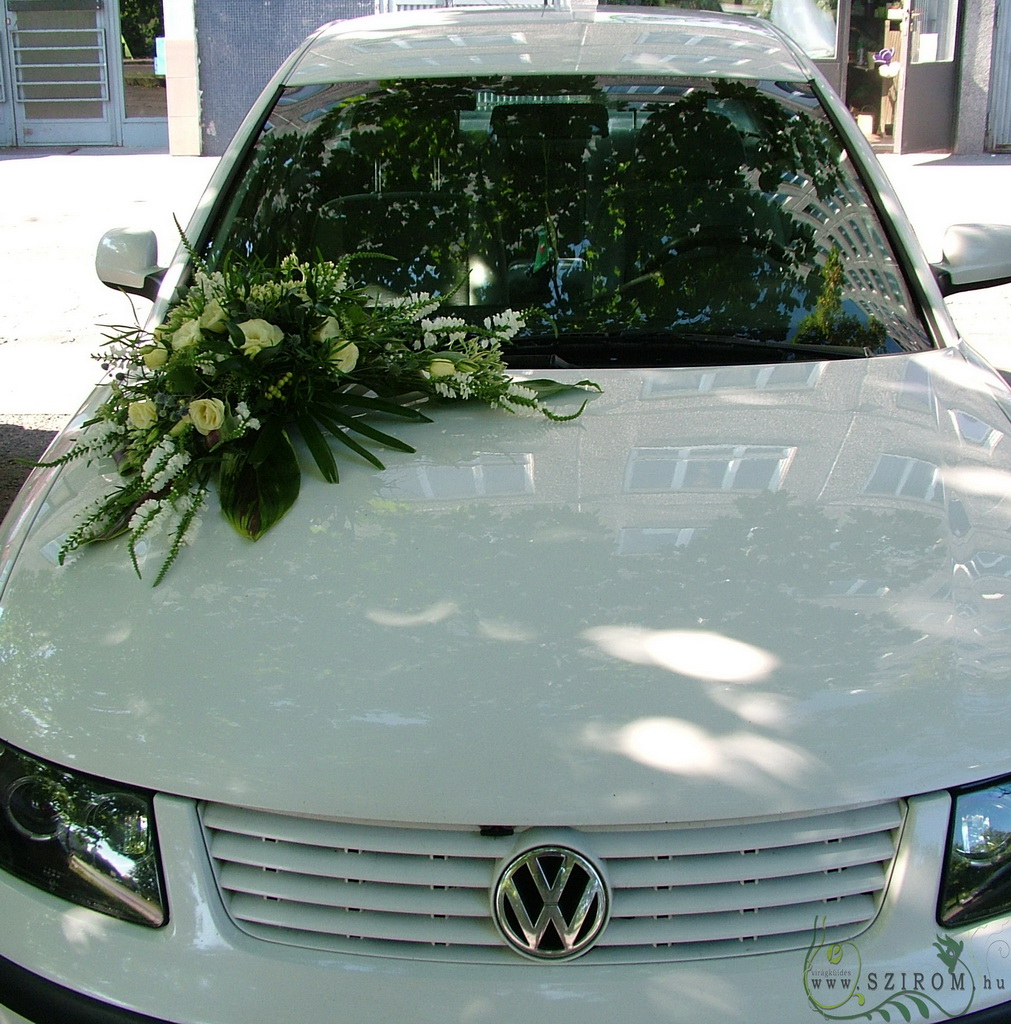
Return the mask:
POLYGON ((4 0, 17 145, 116 145, 115 0, 4 0), (112 9, 110 9, 112 8, 112 9))

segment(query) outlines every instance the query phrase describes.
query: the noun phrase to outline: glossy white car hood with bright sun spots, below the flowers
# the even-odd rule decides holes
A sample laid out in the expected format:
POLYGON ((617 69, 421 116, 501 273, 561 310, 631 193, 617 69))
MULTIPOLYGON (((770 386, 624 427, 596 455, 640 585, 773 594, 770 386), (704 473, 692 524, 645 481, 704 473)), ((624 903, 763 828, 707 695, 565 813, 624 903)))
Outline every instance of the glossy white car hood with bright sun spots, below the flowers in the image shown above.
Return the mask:
POLYGON ((988 371, 598 380, 572 423, 446 407, 383 471, 306 463, 256 544, 212 502, 157 588, 121 541, 55 564, 113 479, 64 470, 3 594, 0 735, 153 790, 431 823, 801 813, 1011 771, 988 371))

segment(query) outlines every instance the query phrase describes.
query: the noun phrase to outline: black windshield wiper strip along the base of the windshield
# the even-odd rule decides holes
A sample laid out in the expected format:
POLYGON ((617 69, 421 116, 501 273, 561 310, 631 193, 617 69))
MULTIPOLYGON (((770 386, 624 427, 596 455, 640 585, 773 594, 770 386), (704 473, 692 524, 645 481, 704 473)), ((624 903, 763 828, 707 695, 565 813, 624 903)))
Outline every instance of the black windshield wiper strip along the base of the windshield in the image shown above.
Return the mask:
POLYGON ((617 331, 517 338, 508 347, 506 361, 517 370, 701 367, 725 365, 728 349, 736 350, 734 361, 751 364, 868 358, 874 354, 871 349, 855 345, 819 345, 738 335, 617 331))

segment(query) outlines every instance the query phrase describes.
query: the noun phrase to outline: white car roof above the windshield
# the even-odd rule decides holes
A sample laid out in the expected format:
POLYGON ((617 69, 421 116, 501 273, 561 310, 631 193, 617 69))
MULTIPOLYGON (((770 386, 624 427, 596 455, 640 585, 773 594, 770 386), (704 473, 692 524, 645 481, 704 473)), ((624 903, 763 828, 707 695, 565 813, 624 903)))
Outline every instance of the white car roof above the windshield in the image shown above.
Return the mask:
POLYGON ((666 8, 467 8, 326 26, 288 85, 483 75, 635 75, 806 82, 807 58, 767 22, 666 8))

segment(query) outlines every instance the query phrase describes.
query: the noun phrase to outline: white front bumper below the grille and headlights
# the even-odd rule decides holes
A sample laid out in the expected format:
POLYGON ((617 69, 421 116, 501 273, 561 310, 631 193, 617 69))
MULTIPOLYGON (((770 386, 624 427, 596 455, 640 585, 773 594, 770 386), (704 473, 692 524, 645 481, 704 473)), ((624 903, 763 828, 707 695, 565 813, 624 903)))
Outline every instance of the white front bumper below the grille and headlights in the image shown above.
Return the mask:
POLYGON ((218 898, 195 807, 163 797, 169 924, 114 921, 3 879, 0 1004, 38 1024, 1011 1022, 1011 923, 958 932, 934 921, 949 810, 944 794, 910 802, 885 903, 852 943, 679 964, 502 967, 322 953, 245 935, 218 898))

